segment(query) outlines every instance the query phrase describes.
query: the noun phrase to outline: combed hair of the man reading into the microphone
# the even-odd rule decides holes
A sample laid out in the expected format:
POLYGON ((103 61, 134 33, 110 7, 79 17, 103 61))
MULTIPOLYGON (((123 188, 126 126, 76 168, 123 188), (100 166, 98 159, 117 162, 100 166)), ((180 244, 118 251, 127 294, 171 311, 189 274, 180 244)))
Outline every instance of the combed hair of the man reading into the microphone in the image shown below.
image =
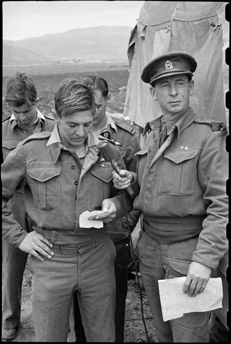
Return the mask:
POLYGON ((77 111, 95 110, 94 90, 77 79, 64 80, 54 97, 55 111, 62 118, 77 111))

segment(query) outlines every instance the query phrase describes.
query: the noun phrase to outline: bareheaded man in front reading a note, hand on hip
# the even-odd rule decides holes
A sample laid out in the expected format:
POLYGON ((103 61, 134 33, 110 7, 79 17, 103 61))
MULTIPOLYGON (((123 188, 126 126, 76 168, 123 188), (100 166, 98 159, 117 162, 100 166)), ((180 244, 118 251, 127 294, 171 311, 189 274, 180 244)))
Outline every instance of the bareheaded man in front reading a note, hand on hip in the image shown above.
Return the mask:
MULTIPOLYGON (((111 163, 102 158, 100 140, 91 131, 94 91, 76 80, 64 81, 52 113, 52 133, 35 133, 20 142, 2 165, 3 239, 31 254, 36 341, 67 340, 77 290, 87 341, 114 342, 115 246, 105 226, 82 228, 79 221, 83 212, 101 208, 105 212, 97 217, 104 223, 125 215, 123 195, 112 183, 111 163), (20 182, 25 207, 36 223, 31 233, 7 207, 20 182)), ((119 149, 108 144, 124 169, 119 149)))

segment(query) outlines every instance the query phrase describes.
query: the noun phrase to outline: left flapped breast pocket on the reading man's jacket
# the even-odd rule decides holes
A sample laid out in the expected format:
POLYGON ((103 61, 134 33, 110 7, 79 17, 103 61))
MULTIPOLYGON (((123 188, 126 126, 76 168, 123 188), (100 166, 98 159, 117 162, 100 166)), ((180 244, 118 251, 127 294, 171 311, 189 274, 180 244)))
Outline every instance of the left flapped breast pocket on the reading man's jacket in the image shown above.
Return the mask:
POLYGON ((61 167, 28 167, 28 182, 36 206, 41 210, 56 210, 60 207, 61 167))

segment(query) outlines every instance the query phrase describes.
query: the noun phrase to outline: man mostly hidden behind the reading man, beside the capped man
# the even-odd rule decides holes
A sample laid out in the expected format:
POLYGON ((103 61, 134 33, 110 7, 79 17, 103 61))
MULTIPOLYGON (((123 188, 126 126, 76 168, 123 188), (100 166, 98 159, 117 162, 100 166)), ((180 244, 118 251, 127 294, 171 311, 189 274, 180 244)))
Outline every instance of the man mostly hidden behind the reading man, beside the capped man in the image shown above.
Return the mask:
MULTIPOLYGON (((92 131, 107 139, 114 141, 119 148, 127 170, 136 172, 137 160, 134 154, 140 150, 140 146, 130 126, 113 119, 106 114, 107 104, 111 100, 108 85, 105 79, 96 75, 86 75, 80 80, 84 85, 91 86, 95 90, 96 112, 94 115, 92 131)), ((132 211, 128 214, 131 232, 137 225, 141 212, 132 211)), ((116 278, 116 309, 115 309, 115 332, 116 342, 124 342, 124 320, 125 302, 127 295, 128 262, 130 256, 129 232, 126 218, 107 224, 107 234, 113 240, 116 248, 116 259, 114 262, 116 278)), ((74 293, 74 318, 76 341, 86 341, 80 310, 78 308, 77 292, 74 293)), ((71 320, 72 330, 72 320, 71 320)))

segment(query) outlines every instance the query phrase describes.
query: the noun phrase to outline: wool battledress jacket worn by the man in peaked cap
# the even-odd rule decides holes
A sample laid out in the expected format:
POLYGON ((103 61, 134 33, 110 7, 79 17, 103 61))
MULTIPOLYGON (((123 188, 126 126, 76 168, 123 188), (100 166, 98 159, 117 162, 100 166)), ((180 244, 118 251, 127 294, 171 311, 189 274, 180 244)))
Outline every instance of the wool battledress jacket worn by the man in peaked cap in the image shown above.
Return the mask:
POLYGON ((228 154, 223 123, 189 110, 159 148, 161 118, 138 152, 133 206, 143 212, 145 232, 160 244, 198 237, 192 260, 216 269, 228 249, 228 154))

